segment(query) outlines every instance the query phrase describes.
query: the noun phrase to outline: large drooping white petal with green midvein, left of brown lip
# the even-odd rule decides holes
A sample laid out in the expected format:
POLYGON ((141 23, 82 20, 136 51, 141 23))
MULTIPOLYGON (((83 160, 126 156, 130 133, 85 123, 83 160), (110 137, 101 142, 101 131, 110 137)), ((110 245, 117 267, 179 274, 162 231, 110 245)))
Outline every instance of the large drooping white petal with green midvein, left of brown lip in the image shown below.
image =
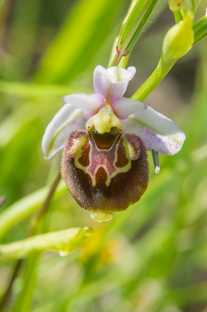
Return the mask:
POLYGON ((63 148, 68 134, 75 129, 85 129, 88 118, 71 104, 65 104, 48 124, 42 138, 44 158, 49 159, 63 148))

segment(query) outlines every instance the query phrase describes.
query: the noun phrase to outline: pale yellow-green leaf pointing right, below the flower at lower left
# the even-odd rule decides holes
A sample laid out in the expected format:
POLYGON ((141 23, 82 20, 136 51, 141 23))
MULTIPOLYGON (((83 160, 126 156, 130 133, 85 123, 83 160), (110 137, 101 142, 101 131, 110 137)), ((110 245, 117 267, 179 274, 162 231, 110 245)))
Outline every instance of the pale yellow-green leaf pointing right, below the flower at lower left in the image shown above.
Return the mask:
POLYGON ((14 259, 22 259, 34 251, 48 249, 58 250, 61 256, 66 256, 69 252, 78 248, 92 232, 92 227, 74 227, 0 245, 0 261, 6 262, 14 259))

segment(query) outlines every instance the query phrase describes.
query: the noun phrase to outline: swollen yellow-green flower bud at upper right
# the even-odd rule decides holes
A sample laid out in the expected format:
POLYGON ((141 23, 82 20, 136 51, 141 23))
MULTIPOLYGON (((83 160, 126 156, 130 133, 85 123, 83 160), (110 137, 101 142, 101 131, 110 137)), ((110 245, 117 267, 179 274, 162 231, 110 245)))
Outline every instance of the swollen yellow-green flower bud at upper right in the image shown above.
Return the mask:
POLYGON ((192 19, 192 14, 188 12, 183 21, 168 30, 163 40, 164 61, 176 61, 191 49, 194 40, 192 19))

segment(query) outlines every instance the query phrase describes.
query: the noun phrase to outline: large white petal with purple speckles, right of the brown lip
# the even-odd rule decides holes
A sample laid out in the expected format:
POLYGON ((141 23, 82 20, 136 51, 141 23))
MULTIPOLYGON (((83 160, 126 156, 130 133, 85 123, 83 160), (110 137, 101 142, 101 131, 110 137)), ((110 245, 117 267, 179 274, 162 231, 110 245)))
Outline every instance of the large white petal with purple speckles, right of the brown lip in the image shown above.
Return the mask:
POLYGON ((124 132, 138 134, 147 150, 154 149, 157 153, 174 155, 181 150, 186 139, 184 132, 173 120, 143 103, 138 103, 136 114, 122 122, 124 132))

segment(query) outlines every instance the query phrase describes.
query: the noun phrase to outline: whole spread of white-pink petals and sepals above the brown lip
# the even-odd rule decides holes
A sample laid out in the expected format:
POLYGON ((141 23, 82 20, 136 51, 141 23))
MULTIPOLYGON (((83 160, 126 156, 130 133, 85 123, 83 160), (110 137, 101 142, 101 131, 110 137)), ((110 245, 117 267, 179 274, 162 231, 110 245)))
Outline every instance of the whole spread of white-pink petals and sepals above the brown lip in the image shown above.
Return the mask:
POLYGON ((134 77, 136 68, 121 67, 105 69, 101 65, 94 70, 94 94, 74 93, 66 95, 67 103, 48 124, 42 140, 46 159, 63 148, 73 130, 85 129, 88 119, 95 116, 107 102, 114 114, 121 119, 123 134, 137 134, 147 150, 174 155, 182 148, 185 134, 171 119, 137 100, 124 98, 128 82, 134 77))

